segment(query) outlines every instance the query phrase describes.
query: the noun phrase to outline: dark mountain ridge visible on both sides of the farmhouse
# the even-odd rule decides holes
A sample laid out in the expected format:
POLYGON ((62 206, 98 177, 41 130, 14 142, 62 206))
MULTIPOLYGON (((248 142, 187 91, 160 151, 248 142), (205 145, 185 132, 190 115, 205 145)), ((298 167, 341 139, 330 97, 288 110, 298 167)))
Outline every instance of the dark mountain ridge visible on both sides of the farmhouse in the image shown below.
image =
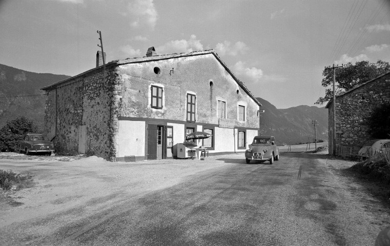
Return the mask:
MULTIPOLYGON (((71 76, 51 73, 34 73, 0 64, 0 127, 7 119, 26 116, 43 130, 45 117, 45 92, 40 90, 71 76)), ((314 141, 314 125, 317 120, 317 139, 327 140, 327 110, 315 106, 300 105, 277 109, 269 101, 256 97, 265 110, 260 113, 260 133, 273 135, 279 145, 314 141)), ((248 139, 250 142, 252 139, 248 139)))

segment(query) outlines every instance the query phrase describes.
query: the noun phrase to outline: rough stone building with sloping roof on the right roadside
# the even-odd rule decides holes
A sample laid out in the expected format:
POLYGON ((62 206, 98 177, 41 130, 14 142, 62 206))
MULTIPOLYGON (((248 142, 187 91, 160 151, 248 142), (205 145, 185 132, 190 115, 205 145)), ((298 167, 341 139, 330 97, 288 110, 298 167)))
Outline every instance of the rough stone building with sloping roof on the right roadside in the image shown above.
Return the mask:
POLYGON ((370 140, 367 119, 379 105, 390 101, 390 73, 383 74, 336 97, 336 139, 334 139, 333 100, 329 110, 329 154, 353 157, 370 140))

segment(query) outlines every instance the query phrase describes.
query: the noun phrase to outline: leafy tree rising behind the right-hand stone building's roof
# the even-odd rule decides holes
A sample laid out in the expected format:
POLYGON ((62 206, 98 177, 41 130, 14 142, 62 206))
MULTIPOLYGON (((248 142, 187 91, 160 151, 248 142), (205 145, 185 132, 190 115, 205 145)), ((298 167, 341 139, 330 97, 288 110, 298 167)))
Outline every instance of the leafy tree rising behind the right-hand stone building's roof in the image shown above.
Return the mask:
MULTIPOLYGON (((321 85, 329 87, 333 85, 333 69, 325 67, 322 71, 324 78, 321 85)), ((336 70, 336 95, 343 91, 352 89, 368 80, 376 78, 382 74, 390 72, 390 64, 386 61, 378 60, 377 63, 368 63, 367 60, 357 61, 355 65, 347 63, 342 68, 336 70)), ((325 89, 325 96, 318 98, 315 104, 323 104, 325 101, 333 99, 333 89, 325 89)))

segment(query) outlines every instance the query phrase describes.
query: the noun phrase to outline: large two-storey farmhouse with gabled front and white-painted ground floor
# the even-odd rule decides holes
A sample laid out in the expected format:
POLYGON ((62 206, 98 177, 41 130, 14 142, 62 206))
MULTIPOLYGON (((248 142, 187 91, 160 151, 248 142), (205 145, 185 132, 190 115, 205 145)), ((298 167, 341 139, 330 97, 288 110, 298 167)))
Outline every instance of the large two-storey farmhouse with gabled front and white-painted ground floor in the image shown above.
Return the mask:
POLYGON ((45 131, 56 151, 124 161, 177 156, 186 135, 210 155, 243 152, 259 130, 261 104, 214 50, 114 60, 42 88, 45 131), (105 80, 104 80, 105 79, 105 80), (104 80, 104 81, 103 81, 104 80))

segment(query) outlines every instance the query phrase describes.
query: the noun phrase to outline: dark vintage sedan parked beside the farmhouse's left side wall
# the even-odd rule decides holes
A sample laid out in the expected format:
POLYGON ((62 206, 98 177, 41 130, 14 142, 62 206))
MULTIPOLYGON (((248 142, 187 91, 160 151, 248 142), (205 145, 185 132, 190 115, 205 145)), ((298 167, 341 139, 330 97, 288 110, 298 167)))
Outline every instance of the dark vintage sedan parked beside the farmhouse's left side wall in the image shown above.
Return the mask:
POLYGON ((54 152, 54 144, 49 141, 45 134, 26 134, 22 141, 19 141, 19 152, 30 153, 46 153, 54 152))

